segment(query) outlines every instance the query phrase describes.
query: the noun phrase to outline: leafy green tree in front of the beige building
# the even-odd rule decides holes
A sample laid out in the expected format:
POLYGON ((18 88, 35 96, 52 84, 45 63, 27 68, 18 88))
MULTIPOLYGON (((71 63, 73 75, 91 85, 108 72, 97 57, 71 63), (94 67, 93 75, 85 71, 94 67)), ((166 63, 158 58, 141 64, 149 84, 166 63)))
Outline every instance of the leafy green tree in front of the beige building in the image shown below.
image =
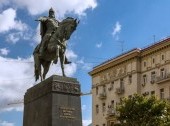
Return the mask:
POLYGON ((155 97, 135 94, 123 98, 117 112, 117 119, 123 126, 170 126, 169 103, 155 97))

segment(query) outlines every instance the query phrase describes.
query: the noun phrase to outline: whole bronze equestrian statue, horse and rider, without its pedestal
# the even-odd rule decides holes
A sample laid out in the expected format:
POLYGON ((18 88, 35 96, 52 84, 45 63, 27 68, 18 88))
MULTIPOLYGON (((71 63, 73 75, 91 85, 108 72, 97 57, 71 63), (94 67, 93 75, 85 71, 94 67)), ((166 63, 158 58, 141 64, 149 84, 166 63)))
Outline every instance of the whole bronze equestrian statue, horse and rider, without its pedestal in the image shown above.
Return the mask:
POLYGON ((65 52, 67 40, 76 30, 79 23, 77 19, 67 17, 62 22, 55 19, 55 12, 51 8, 48 17, 40 17, 35 20, 40 22, 41 42, 33 52, 35 80, 39 77, 41 81, 45 79, 51 63, 57 64, 60 59, 62 75, 65 75, 64 64, 70 64, 65 52), (43 67, 43 74, 41 68, 43 67))

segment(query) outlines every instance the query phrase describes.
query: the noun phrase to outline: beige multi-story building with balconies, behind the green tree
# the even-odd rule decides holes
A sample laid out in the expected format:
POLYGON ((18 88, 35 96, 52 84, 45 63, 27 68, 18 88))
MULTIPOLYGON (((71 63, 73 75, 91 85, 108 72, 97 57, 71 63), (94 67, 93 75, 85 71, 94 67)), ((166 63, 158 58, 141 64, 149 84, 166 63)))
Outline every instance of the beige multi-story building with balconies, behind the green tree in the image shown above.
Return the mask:
POLYGON ((138 93, 170 99, 170 38, 110 59, 92 77, 92 125, 113 126, 121 98, 138 93))

